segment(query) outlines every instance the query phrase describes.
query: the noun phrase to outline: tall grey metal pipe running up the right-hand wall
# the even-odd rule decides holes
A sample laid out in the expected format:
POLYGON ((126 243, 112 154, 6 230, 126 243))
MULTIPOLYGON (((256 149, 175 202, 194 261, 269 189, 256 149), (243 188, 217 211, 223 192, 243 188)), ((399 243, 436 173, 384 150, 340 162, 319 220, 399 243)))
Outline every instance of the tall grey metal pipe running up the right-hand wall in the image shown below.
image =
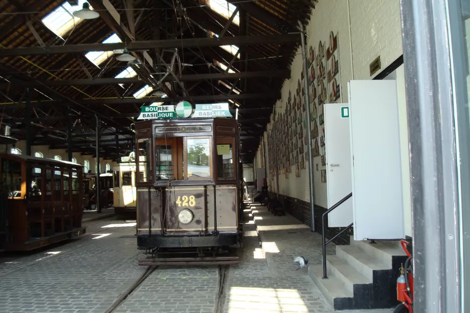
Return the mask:
POLYGON ((308 77, 308 66, 307 66, 307 49, 305 48, 305 35, 304 35, 304 26, 299 21, 300 37, 302 43, 302 61, 304 65, 304 89, 305 89, 305 107, 307 111, 307 139, 309 141, 309 188, 310 188, 310 230, 316 231, 315 229, 315 188, 313 180, 313 155, 312 155, 312 122, 310 120, 310 97, 309 97, 309 77, 308 77))

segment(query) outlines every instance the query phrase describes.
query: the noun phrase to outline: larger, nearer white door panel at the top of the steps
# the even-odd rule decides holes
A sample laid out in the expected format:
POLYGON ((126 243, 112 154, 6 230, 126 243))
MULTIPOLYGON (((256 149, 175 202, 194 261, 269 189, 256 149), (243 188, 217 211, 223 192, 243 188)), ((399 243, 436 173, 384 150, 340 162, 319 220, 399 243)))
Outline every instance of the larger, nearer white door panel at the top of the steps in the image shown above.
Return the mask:
POLYGON ((354 239, 404 237, 396 81, 351 81, 354 239))

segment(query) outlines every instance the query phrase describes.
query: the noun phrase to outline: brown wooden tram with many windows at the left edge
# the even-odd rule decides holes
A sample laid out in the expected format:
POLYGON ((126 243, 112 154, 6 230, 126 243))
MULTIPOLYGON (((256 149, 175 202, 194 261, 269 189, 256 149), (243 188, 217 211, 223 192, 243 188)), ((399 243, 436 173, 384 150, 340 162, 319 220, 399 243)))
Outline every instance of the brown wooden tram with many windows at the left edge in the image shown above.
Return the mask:
POLYGON ((0 154, 0 194, 8 220, 0 246, 32 250, 85 232, 80 164, 0 154))

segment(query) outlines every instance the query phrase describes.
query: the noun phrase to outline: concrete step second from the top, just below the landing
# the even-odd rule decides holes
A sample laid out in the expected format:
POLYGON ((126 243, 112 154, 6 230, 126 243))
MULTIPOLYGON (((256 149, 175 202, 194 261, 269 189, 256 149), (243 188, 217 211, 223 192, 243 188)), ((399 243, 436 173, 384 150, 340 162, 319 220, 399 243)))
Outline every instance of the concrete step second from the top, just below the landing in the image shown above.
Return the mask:
POLYGON ((372 281, 373 271, 380 269, 391 269, 380 259, 368 255, 359 247, 354 245, 337 245, 336 255, 350 264, 356 271, 372 281))

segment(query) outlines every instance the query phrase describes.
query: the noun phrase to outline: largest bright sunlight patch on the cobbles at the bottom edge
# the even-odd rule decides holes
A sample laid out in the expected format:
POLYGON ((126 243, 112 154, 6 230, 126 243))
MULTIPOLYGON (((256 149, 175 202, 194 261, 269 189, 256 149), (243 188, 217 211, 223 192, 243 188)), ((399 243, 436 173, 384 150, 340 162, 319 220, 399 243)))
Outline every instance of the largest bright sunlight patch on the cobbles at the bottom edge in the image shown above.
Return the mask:
POLYGON ((308 312, 296 289, 231 287, 228 313, 308 312))

